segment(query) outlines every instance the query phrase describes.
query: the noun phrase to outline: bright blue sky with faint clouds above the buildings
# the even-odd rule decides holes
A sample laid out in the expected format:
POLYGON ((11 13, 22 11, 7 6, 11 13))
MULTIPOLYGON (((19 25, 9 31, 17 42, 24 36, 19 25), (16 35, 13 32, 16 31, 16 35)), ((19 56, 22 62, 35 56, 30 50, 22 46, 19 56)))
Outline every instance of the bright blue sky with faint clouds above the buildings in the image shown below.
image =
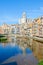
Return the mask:
POLYGON ((43 0, 0 0, 0 25, 18 24, 23 12, 31 19, 43 16, 43 0))

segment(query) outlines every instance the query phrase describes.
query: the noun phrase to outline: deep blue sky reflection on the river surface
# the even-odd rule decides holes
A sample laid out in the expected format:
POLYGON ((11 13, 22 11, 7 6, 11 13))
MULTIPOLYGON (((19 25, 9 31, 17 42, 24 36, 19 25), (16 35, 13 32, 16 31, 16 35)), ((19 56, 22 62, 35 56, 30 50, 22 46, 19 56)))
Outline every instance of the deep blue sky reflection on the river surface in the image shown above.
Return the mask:
MULTIPOLYGON (((28 48, 26 49, 25 51, 26 53, 31 53, 31 50, 28 48)), ((5 47, 3 47, 1 44, 0 44, 0 63, 2 61, 4 61, 5 59, 11 57, 11 56, 15 56, 17 54, 22 54, 23 51, 21 48, 19 48, 19 46, 10 46, 10 45, 6 45, 5 47)))

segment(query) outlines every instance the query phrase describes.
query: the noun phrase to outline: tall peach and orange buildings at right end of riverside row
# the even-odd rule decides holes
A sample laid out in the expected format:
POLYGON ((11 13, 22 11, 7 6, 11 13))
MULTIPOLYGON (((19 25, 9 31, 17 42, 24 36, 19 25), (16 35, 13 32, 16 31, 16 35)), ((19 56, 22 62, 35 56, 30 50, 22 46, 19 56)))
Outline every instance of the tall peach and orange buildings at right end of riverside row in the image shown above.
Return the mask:
POLYGON ((43 37, 43 17, 33 20, 33 36, 43 37))

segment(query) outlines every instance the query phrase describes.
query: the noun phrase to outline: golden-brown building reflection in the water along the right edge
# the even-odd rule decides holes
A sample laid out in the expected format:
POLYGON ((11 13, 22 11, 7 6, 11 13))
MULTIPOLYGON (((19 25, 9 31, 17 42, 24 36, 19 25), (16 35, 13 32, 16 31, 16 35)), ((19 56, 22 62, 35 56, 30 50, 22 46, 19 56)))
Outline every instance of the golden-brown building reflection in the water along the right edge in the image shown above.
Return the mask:
POLYGON ((34 55, 40 60, 43 59, 43 43, 33 41, 32 50, 34 55))

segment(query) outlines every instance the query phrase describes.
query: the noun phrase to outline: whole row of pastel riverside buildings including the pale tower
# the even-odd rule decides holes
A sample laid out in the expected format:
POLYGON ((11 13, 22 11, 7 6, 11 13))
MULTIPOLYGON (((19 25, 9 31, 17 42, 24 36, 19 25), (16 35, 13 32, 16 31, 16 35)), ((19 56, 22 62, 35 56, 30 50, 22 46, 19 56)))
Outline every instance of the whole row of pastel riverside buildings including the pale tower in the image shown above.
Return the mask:
POLYGON ((0 34, 43 37, 43 16, 32 21, 26 17, 26 13, 24 12, 19 19, 19 24, 7 25, 4 23, 0 26, 0 34))

